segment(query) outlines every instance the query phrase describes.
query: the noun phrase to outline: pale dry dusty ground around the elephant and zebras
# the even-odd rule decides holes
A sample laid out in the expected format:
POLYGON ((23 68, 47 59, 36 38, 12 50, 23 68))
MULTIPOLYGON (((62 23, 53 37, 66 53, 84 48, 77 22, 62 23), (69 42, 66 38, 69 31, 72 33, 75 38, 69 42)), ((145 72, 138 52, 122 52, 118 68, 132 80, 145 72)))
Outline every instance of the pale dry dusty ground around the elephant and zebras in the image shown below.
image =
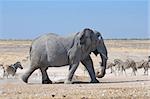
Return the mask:
MULTIPOLYGON (((115 58, 125 60, 132 58, 135 61, 147 60, 150 56, 150 40, 106 40, 109 60, 115 58)), ((100 83, 89 83, 87 71, 80 64, 74 76, 74 84, 66 85, 63 81, 68 67, 49 68, 48 74, 55 84, 41 84, 41 74, 37 70, 29 79, 29 84, 20 80, 21 75, 29 66, 28 51, 31 41, 0 41, 0 63, 12 64, 20 61, 24 67, 17 71, 15 78, 0 78, 0 99, 106 99, 106 98, 150 98, 150 74, 143 75, 139 69, 136 76, 131 76, 131 70, 125 74, 110 73, 98 79, 100 83)), ((99 56, 91 55, 94 67, 99 68, 99 56)))

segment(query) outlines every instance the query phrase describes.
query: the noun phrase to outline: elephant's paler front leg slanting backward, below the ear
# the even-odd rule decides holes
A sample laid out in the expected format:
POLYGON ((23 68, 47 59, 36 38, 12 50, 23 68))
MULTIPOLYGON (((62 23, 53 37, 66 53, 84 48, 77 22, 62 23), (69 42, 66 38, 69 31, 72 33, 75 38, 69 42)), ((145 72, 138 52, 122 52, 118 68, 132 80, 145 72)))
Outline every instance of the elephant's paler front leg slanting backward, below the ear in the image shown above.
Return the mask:
POLYGON ((67 79, 64 82, 65 84, 71 84, 72 83, 72 78, 73 78, 73 75, 74 75, 78 65, 79 65, 79 63, 70 65, 67 79))

